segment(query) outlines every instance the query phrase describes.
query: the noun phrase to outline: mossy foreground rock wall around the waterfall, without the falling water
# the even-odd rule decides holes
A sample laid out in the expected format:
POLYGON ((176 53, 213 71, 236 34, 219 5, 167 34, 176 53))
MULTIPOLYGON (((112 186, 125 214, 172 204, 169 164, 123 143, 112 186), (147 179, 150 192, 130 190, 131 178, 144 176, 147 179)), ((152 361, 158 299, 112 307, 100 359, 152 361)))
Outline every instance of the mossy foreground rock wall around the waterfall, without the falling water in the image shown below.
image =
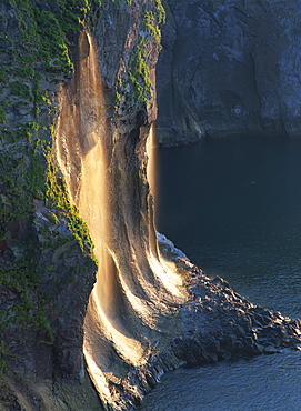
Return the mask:
POLYGON ((71 119, 60 116, 63 96, 78 98, 72 79, 79 76, 84 24, 98 39, 110 130, 116 139, 127 134, 120 150, 134 180, 128 179, 129 191, 140 187, 130 212, 148 214, 144 141, 155 118, 152 82, 162 10, 159 1, 29 0, 3 1, 0 11, 1 404, 100 409, 82 349, 97 263, 53 141, 58 124, 71 119))

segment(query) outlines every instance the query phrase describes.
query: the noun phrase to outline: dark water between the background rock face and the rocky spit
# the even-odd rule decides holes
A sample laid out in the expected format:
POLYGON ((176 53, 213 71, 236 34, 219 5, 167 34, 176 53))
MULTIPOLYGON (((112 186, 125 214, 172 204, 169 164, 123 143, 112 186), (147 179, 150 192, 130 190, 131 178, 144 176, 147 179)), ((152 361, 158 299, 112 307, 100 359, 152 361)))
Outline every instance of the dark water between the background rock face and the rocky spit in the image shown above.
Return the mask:
POLYGON ((159 231, 208 275, 292 317, 301 314, 300 158, 300 140, 267 138, 208 140, 159 156, 159 231))

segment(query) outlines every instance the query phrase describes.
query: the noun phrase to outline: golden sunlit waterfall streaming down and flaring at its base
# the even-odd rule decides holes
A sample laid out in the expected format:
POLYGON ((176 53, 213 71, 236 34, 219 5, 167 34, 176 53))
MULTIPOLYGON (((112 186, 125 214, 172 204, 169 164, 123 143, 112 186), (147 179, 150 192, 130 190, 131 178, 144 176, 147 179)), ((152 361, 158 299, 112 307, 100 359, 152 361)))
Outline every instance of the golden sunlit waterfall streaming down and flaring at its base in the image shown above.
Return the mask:
POLYGON ((61 90, 60 106, 56 158, 99 262, 84 320, 84 355, 101 399, 114 403, 112 384, 144 364, 180 327, 172 315, 187 292, 158 250, 147 182, 148 174, 155 193, 153 131, 143 168, 139 152, 146 153, 146 141, 139 151, 132 138, 138 129, 121 133, 106 113, 96 48, 84 31, 76 76, 61 90))

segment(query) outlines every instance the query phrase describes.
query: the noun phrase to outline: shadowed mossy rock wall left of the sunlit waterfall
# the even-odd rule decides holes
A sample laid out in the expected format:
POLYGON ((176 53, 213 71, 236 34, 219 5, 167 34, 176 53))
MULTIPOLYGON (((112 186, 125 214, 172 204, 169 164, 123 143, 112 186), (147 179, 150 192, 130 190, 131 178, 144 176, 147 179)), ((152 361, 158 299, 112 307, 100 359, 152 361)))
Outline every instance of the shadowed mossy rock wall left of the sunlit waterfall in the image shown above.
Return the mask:
POLYGON ((82 324, 97 265, 87 227, 67 197, 51 156, 60 87, 73 76, 66 33, 76 49, 78 19, 87 12, 77 14, 74 9, 47 1, 0 4, 4 410, 63 410, 66 403, 100 407, 82 353, 82 324), (74 390, 66 378, 83 384, 74 390))

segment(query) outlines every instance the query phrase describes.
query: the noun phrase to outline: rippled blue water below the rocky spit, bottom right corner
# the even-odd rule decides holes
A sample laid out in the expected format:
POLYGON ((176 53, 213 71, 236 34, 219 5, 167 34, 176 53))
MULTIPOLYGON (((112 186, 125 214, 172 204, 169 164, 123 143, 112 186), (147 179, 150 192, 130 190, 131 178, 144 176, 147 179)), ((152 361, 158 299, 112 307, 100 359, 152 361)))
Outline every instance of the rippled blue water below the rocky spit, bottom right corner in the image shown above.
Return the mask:
POLYGON ((285 351, 250 360, 181 369, 162 377, 143 411, 299 411, 301 354, 285 351), (293 378, 292 378, 293 377, 293 378))

